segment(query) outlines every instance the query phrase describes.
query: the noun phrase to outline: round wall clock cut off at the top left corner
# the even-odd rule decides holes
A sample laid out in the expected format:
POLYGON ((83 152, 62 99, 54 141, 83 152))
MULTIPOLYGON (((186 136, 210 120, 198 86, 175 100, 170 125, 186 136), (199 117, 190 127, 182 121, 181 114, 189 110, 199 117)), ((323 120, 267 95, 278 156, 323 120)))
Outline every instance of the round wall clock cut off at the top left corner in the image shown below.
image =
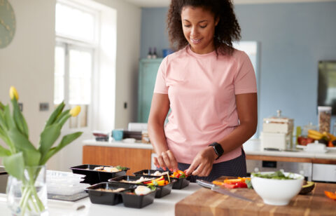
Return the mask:
POLYGON ((0 0, 0 48, 5 48, 15 34, 15 14, 8 0, 0 0))

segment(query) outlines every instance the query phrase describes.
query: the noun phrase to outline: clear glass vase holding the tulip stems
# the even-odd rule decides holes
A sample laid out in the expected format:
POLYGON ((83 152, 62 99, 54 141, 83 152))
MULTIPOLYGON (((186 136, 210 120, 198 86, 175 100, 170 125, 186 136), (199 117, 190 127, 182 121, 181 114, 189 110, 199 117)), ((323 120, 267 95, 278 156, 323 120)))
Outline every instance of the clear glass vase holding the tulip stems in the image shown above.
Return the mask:
POLYGON ((10 175, 6 194, 13 215, 48 215, 45 166, 26 167, 22 180, 10 175))

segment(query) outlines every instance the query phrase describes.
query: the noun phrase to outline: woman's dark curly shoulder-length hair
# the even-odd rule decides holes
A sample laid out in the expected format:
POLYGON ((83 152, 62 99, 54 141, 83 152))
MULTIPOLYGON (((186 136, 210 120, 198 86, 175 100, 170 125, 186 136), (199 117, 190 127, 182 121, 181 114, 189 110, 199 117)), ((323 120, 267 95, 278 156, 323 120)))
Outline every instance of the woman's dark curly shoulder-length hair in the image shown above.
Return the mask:
POLYGON ((167 15, 167 30, 169 42, 174 50, 180 50, 188 45, 181 21, 181 11, 185 6, 202 7, 214 13, 215 27, 214 46, 216 53, 232 54, 232 41, 239 41, 240 27, 231 0, 172 0, 167 15))

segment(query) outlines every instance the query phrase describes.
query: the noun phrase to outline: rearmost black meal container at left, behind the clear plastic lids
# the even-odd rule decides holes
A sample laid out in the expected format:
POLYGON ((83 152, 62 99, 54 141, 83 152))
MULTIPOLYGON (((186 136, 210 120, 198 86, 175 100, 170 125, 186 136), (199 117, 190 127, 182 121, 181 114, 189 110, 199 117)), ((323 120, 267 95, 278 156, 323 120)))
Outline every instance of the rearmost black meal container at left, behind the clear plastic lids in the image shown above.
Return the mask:
MULTIPOLYGON (((119 171, 114 173, 93 170, 98 166, 103 165, 83 164, 80 166, 73 166, 70 169, 72 170, 72 173, 85 175, 83 182, 80 183, 87 183, 87 184, 97 184, 99 182, 107 182, 107 180, 113 177, 126 175, 127 170, 130 170, 130 168, 127 168, 126 171, 119 171)), ((104 167, 113 167, 113 166, 104 166, 104 167)))

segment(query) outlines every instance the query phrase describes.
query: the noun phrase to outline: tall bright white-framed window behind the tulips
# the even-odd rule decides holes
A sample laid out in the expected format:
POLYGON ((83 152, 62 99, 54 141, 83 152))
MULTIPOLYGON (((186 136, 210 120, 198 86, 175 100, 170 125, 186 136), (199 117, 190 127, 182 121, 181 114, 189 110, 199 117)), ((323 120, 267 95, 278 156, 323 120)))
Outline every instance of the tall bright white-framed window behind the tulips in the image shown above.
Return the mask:
POLYGON ((92 102, 94 53, 97 50, 98 13, 67 1, 56 4, 54 104, 64 101, 81 112, 69 128, 86 128, 92 102))

